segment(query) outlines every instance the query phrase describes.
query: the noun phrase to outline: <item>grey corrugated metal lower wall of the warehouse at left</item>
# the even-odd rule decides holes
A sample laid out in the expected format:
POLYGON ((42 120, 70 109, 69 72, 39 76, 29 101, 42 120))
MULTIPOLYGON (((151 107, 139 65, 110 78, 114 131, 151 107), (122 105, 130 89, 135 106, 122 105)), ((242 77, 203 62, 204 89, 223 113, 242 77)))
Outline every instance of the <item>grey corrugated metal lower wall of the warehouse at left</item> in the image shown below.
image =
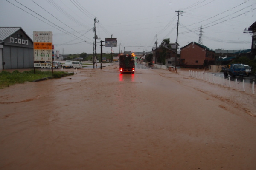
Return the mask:
POLYGON ((34 67, 33 48, 23 48, 4 45, 4 69, 32 68, 34 67))

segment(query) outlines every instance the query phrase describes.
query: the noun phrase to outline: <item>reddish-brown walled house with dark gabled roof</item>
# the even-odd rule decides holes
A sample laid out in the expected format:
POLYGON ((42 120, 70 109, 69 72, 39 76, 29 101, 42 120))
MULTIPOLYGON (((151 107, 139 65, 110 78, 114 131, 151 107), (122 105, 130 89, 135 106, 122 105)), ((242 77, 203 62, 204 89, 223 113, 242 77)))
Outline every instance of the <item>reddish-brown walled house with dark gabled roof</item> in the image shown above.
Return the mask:
POLYGON ((180 48, 180 63, 185 68, 204 68, 214 65, 215 51, 208 47, 191 42, 180 48))

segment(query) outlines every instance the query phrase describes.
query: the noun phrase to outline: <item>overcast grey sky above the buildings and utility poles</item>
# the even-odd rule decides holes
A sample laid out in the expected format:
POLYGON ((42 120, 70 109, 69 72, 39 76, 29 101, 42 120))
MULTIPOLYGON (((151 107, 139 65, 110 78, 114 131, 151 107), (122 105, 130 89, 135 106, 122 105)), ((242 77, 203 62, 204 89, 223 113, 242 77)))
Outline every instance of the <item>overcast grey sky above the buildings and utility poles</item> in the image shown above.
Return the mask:
POLYGON ((32 39, 33 31, 52 31, 60 54, 93 53, 96 17, 96 35, 117 38, 113 52, 151 51, 156 35, 158 45, 176 42, 178 10, 180 48, 198 42, 201 25, 208 48, 251 48, 243 31, 256 21, 256 0, 0 0, 0 27, 22 27, 32 39))

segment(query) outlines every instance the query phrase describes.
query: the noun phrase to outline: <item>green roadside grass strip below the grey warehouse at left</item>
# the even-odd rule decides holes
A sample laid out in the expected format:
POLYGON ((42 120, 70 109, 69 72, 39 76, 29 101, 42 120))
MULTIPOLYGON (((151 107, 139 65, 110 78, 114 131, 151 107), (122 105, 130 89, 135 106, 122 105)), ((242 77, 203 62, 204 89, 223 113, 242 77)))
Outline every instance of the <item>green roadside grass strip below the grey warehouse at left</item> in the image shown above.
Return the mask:
POLYGON ((5 87, 9 87, 10 85, 14 85, 17 83, 24 83, 24 82, 33 82, 37 79, 42 79, 44 77, 53 76, 54 78, 60 78, 62 74, 67 72, 63 71, 40 71, 40 70, 30 70, 30 71, 23 71, 22 73, 18 70, 13 71, 12 73, 8 71, 1 71, 0 72, 0 89, 5 87))

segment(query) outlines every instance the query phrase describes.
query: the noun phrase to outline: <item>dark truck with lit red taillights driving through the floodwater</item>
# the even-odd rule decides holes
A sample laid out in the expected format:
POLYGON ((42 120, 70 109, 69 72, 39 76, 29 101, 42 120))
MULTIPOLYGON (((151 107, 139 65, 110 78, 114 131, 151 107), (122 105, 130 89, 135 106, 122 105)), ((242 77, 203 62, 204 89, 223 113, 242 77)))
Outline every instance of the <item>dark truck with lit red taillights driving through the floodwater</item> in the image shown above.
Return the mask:
POLYGON ((134 65, 134 57, 133 55, 120 55, 119 56, 119 70, 121 73, 123 72, 131 72, 134 73, 135 65, 134 65))

